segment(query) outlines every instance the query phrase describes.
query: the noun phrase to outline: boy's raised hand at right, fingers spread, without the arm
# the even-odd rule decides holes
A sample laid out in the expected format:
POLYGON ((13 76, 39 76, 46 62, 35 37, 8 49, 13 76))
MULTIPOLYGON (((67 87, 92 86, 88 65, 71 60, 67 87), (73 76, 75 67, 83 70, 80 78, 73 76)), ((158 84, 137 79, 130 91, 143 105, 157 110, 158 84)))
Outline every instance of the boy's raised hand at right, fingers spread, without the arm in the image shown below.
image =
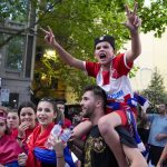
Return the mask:
POLYGON ((141 24, 141 20, 137 16, 137 8, 138 3, 135 2, 134 11, 129 10, 129 7, 126 6, 126 14, 127 14, 127 21, 124 23, 131 32, 137 31, 138 28, 141 24))

